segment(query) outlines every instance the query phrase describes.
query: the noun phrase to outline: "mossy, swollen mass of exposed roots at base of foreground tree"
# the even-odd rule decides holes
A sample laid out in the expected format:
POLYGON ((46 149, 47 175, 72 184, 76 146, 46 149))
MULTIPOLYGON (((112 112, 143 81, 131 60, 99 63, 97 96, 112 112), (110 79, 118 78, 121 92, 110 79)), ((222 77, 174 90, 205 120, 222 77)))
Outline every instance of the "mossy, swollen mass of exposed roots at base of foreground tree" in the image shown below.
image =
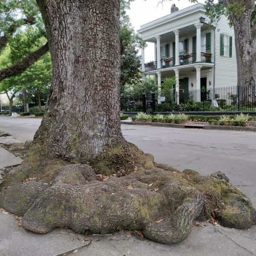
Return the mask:
POLYGON ((102 234, 142 230, 149 239, 174 244, 186 239, 198 218, 213 215, 221 224, 236 228, 256 223, 250 200, 221 173, 179 172, 154 163, 152 156, 131 144, 106 151, 91 162, 93 168, 57 161, 44 160, 44 167, 36 165, 38 169, 28 168, 25 161, 4 180, 0 207, 23 215, 27 230, 47 233, 68 227, 102 234), (103 174, 115 173, 115 177, 97 180, 100 166, 103 174))

